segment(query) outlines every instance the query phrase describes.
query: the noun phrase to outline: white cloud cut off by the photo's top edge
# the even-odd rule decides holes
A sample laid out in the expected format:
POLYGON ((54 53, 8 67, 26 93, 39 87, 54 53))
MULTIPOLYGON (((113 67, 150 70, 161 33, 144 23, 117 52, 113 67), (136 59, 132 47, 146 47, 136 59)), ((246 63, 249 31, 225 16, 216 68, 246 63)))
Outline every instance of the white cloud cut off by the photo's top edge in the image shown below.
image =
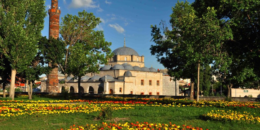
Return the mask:
POLYGON ((72 0, 69 6, 72 8, 99 8, 99 5, 96 5, 92 0, 72 0))

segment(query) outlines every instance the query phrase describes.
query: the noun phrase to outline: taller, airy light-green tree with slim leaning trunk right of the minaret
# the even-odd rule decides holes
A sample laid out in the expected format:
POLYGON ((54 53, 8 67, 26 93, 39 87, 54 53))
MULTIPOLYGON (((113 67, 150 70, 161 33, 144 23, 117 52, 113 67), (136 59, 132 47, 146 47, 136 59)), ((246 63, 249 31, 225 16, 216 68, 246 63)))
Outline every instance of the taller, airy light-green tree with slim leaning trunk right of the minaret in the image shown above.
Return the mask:
MULTIPOLYGON (((104 48, 107 48, 109 45, 111 45, 111 43, 107 43, 104 41, 103 32, 94 30, 94 28, 101 21, 100 18, 96 18, 93 13, 87 13, 85 10, 83 10, 83 12, 78 12, 78 16, 67 14, 61 19, 62 22, 60 26, 60 34, 64 40, 63 42, 64 45, 66 46, 66 49, 65 49, 65 53, 62 55, 64 58, 63 60, 58 62, 58 66, 59 66, 59 70, 65 75, 65 88, 68 89, 66 85, 67 76, 70 75, 72 72, 68 68, 69 67, 68 65, 70 64, 71 66, 72 64, 77 64, 77 63, 69 63, 70 62, 69 57, 72 55, 71 50, 73 50, 72 47, 76 43, 86 44, 92 47, 91 49, 88 50, 95 51, 96 49, 100 48, 100 45, 105 45, 104 48), (95 46, 95 44, 98 46, 95 46)), ((77 48, 77 45, 75 48, 77 48)), ((108 51, 108 50, 103 50, 103 51, 108 51)), ((77 55, 74 56, 79 58, 77 55)), ((81 63, 84 64, 84 61, 81 63)), ((90 63, 86 63, 86 64, 90 64, 90 63)), ((81 65, 82 64, 80 64, 79 66, 81 65)), ((83 67, 83 69, 84 68, 85 67, 83 67)), ((83 71, 83 73, 85 72, 83 71)), ((76 73, 74 74, 76 75, 76 73)), ((80 75, 82 75, 82 73, 80 75)))

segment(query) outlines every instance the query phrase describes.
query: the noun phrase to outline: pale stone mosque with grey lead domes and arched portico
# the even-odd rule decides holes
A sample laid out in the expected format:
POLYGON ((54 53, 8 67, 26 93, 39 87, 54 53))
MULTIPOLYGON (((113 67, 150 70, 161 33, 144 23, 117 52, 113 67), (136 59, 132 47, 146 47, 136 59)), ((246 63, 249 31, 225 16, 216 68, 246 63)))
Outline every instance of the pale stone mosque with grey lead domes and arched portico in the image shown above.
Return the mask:
MULTIPOLYGON (((159 69, 144 66, 144 56, 124 46, 113 51, 108 65, 100 67, 99 73, 88 73, 81 78, 82 93, 89 94, 134 94, 134 95, 179 95, 179 83, 159 69), (177 90, 177 91, 176 91, 177 90)), ((58 73, 58 92, 65 90, 64 75, 58 73)), ((67 77, 70 92, 78 92, 78 79, 67 77)), ((42 91, 46 89, 41 82, 42 91)))

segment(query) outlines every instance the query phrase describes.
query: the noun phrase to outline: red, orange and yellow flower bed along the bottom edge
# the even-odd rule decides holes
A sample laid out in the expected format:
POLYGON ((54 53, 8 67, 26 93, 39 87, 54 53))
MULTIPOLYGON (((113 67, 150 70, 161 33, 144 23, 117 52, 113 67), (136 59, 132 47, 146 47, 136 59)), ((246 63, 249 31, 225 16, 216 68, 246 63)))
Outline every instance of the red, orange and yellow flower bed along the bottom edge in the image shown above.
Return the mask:
MULTIPOLYGON (((76 126, 72 125, 70 128, 67 128, 67 130, 203 130, 199 127, 192 127, 192 126, 178 126, 175 124, 172 124, 171 122, 169 124, 151 124, 148 122, 142 122, 139 123, 138 121, 136 123, 124 123, 124 124, 87 124, 85 126, 76 126)), ((60 129, 65 130, 65 129, 60 129)))

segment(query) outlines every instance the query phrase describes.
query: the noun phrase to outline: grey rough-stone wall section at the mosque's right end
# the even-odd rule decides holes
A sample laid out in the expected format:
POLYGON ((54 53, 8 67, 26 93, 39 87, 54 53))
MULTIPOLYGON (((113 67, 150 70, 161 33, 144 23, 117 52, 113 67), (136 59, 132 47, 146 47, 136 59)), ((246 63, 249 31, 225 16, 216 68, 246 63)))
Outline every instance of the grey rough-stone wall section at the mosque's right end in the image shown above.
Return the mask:
POLYGON ((176 91, 175 91, 175 80, 170 79, 170 76, 163 75, 163 94, 162 95, 170 95, 175 96, 175 92, 177 92, 177 96, 179 95, 179 81, 176 82, 176 91))

